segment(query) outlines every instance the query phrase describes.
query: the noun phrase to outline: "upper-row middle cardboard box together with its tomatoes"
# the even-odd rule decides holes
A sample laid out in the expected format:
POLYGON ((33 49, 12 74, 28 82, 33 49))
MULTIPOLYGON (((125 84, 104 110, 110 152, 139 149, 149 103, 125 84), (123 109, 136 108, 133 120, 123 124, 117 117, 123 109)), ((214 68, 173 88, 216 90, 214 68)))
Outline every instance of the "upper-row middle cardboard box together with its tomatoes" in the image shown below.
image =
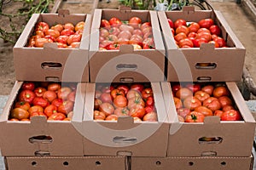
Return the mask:
POLYGON ((90 82, 163 82, 165 47, 157 13, 96 9, 89 55, 90 82))

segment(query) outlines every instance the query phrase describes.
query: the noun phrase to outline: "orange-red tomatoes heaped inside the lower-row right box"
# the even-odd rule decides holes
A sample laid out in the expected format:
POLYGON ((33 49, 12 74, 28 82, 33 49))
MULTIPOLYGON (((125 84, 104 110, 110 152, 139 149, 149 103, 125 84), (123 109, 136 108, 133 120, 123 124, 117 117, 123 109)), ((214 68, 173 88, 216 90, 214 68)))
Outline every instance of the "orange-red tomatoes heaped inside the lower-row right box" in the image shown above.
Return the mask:
POLYGON ((172 95, 180 122, 204 122, 206 116, 219 116, 221 121, 242 120, 225 84, 174 83, 172 95))

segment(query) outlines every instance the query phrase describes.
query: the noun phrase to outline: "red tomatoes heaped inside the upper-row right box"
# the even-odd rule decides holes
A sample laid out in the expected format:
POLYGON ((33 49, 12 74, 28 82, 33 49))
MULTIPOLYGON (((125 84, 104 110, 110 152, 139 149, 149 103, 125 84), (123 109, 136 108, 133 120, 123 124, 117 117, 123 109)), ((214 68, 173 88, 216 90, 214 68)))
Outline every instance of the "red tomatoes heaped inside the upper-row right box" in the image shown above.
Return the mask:
POLYGON ((201 43, 213 43, 215 48, 227 48, 220 27, 210 18, 198 22, 167 20, 179 48, 200 48, 201 43))

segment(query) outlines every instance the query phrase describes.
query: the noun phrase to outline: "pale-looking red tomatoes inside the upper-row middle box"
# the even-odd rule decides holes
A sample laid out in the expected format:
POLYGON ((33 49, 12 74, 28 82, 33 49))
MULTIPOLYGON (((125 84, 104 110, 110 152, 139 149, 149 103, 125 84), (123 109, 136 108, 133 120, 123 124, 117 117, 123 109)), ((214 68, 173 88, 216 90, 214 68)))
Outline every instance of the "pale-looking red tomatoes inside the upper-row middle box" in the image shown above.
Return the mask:
POLYGON ((154 48, 151 22, 138 17, 121 21, 116 17, 101 20, 99 47, 101 50, 119 49, 122 44, 132 44, 134 49, 154 48))

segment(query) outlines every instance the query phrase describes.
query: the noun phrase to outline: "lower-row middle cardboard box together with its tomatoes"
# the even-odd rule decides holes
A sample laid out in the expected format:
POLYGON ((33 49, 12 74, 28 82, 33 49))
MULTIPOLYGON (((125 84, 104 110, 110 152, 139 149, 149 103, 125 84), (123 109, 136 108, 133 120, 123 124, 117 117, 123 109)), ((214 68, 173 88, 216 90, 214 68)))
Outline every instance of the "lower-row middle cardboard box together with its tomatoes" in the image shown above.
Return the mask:
POLYGON ((160 82, 88 83, 85 100, 84 156, 166 156, 160 82))

